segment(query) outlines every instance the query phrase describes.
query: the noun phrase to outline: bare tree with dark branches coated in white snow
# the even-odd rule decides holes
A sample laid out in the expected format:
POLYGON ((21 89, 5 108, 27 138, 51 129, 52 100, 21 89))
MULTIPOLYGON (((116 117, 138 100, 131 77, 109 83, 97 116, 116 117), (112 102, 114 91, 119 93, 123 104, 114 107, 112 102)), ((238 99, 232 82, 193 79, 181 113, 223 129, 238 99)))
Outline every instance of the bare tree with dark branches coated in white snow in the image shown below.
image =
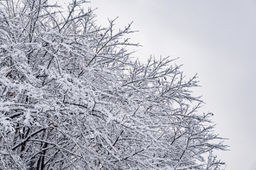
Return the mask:
POLYGON ((97 26, 85 1, 0 3, 0 169, 221 169, 196 76, 131 60, 131 24, 97 26))

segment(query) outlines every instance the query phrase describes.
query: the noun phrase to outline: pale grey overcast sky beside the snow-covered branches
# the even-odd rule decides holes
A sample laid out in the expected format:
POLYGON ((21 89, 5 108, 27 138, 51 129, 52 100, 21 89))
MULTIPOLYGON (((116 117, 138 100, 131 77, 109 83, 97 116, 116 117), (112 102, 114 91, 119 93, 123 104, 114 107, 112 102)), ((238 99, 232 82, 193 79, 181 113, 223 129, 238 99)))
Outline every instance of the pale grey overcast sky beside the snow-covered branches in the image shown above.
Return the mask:
MULTIPOLYGON (((66 0, 67 1, 67 0, 66 0)), ((146 60, 170 55, 188 77, 198 73, 215 132, 230 151, 218 153, 226 170, 256 169, 256 1, 255 0, 91 0, 98 23, 118 16, 117 29, 132 22, 133 54, 146 60)))

